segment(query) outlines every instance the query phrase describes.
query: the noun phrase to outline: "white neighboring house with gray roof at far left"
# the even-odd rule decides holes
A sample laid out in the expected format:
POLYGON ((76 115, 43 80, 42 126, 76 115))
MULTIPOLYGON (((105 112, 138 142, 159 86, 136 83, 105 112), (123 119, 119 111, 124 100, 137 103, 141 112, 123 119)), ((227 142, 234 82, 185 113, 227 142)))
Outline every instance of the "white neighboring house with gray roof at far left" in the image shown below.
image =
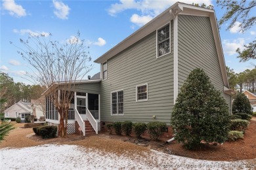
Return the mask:
POLYGON ((33 108, 35 108, 34 115, 37 116, 37 118, 43 116, 41 112, 37 112, 37 110, 39 110, 38 107, 32 107, 32 103, 19 101, 5 110, 5 118, 20 117, 21 120, 25 120, 26 116, 33 114, 33 108))

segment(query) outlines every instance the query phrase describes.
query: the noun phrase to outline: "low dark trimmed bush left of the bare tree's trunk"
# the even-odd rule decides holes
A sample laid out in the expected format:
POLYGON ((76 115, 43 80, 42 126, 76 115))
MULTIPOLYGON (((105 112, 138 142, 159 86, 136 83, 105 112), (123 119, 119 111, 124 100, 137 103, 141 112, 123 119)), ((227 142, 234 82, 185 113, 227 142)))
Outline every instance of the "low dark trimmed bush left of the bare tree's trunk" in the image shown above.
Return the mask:
POLYGON ((56 137, 57 126, 39 126, 36 131, 43 139, 54 138, 56 137))

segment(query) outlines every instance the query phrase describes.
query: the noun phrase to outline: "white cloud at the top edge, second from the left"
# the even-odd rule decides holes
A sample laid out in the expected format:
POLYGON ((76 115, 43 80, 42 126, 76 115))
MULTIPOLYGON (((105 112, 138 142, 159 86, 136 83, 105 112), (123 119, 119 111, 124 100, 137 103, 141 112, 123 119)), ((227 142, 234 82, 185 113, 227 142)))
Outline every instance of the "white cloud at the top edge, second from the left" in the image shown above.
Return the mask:
POLYGON ((64 3, 62 3, 62 1, 57 1, 57 0, 53 0, 53 5, 54 5, 54 14, 62 19, 62 20, 66 20, 68 19, 68 14, 70 14, 70 7, 68 7, 68 5, 65 5, 64 3))

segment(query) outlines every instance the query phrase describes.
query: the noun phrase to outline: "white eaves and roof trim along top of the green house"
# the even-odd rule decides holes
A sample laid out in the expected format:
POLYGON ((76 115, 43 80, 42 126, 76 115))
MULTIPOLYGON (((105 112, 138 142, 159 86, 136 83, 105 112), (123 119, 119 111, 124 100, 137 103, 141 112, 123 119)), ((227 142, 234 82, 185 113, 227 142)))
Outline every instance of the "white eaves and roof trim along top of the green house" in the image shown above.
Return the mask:
MULTIPOLYGON (((194 5, 188 5, 186 3, 175 3, 169 9, 163 11, 160 15, 156 16, 153 20, 148 22, 148 24, 140 27, 135 33, 131 34, 129 37, 119 42, 116 46, 108 50, 105 54, 100 56, 95 60, 95 63, 104 63, 108 59, 116 56, 119 52, 125 50, 135 42, 140 39, 146 37, 146 35, 156 31, 161 25, 166 24, 170 20, 173 20, 175 17, 173 13, 176 14, 186 14, 186 15, 194 15, 194 16, 207 16, 210 18, 212 29, 213 29, 213 37, 215 39, 215 46, 217 49, 217 55, 219 58, 219 64, 221 66, 221 74, 223 76, 224 86, 229 88, 228 84, 228 76, 226 75, 226 65, 224 61, 223 48, 221 45, 221 38, 219 37, 219 29, 217 27, 217 20, 215 17, 215 11, 212 9, 206 9, 203 7, 196 7, 194 5)), ((179 56, 178 56, 179 58, 179 56)))

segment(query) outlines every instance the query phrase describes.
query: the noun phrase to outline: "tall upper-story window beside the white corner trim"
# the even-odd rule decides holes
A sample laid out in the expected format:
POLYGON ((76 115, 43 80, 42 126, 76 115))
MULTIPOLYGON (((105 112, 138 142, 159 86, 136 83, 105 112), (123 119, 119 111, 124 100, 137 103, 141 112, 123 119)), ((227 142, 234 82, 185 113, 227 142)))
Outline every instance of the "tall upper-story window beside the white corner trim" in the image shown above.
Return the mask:
POLYGON ((170 47, 170 25, 165 25, 158 29, 158 58, 168 54, 171 50, 170 47))

